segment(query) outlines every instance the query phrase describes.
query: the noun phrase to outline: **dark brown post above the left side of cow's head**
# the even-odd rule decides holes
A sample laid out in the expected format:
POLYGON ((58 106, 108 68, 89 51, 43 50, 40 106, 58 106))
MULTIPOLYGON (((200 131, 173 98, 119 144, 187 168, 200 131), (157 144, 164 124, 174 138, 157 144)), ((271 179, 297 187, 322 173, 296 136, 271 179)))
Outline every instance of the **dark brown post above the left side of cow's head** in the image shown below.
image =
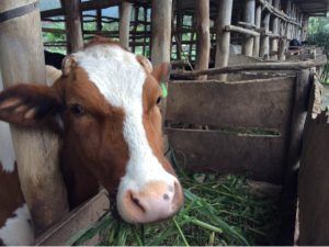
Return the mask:
POLYGON ((80 0, 65 0, 67 50, 75 53, 83 47, 80 0))

